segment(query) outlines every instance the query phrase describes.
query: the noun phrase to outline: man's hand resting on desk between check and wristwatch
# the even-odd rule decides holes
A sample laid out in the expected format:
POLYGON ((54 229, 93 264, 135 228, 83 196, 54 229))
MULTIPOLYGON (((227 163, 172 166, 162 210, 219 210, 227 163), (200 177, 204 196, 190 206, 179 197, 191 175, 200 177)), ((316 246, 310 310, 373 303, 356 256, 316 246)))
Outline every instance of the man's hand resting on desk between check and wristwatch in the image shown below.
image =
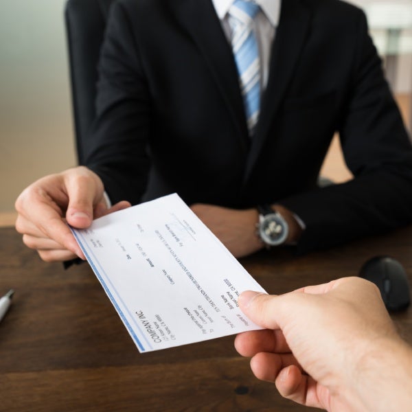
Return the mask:
POLYGON ((236 258, 262 249, 263 243, 256 234, 256 209, 237 210, 201 203, 191 209, 236 258))

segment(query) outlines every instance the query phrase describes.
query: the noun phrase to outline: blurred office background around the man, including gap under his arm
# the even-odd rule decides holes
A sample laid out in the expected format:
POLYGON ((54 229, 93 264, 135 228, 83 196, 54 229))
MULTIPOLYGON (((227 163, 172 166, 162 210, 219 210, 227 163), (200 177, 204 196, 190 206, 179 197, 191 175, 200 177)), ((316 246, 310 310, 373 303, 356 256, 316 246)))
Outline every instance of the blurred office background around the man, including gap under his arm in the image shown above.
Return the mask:
MULTIPOLYGON (((287 1, 287 0, 286 0, 287 1)), ((405 122, 412 117, 412 0, 350 0, 371 35, 405 122)), ((65 0, 2 0, 0 14, 0 225, 35 179, 76 165, 63 11, 65 0)), ((334 140, 323 175, 350 179, 334 140)))

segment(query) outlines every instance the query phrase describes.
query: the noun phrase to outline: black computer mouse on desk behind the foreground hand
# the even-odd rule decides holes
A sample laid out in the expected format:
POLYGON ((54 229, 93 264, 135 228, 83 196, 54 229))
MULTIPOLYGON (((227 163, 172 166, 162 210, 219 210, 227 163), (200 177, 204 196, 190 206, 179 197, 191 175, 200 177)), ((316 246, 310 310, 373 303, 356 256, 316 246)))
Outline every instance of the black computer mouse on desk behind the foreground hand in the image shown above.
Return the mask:
POLYGON ((389 256, 371 258, 359 276, 378 286, 387 310, 402 310, 411 303, 407 273, 398 260, 389 256))

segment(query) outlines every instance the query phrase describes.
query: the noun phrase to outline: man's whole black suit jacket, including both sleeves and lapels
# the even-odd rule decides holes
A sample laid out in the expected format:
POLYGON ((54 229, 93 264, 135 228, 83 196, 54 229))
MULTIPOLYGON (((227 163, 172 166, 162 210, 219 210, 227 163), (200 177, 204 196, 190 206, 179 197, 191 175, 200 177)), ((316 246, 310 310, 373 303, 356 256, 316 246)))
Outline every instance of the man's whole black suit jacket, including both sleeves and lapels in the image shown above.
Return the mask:
POLYGON ((412 220, 412 149, 367 34, 338 0, 285 0, 255 136, 210 0, 120 0, 100 61, 87 165, 113 201, 281 203, 301 252, 412 220), (356 179, 319 189, 339 131, 356 179))

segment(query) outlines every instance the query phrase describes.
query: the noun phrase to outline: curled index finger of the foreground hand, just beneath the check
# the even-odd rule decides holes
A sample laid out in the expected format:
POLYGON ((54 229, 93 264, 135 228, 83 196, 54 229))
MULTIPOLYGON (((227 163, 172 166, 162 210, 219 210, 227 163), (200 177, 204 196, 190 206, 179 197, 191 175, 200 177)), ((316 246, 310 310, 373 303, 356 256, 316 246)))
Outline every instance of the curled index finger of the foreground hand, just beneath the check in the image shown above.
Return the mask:
POLYGON ((281 330, 252 330, 238 334, 236 350, 242 356, 251 357, 258 352, 288 353, 290 349, 281 330))

